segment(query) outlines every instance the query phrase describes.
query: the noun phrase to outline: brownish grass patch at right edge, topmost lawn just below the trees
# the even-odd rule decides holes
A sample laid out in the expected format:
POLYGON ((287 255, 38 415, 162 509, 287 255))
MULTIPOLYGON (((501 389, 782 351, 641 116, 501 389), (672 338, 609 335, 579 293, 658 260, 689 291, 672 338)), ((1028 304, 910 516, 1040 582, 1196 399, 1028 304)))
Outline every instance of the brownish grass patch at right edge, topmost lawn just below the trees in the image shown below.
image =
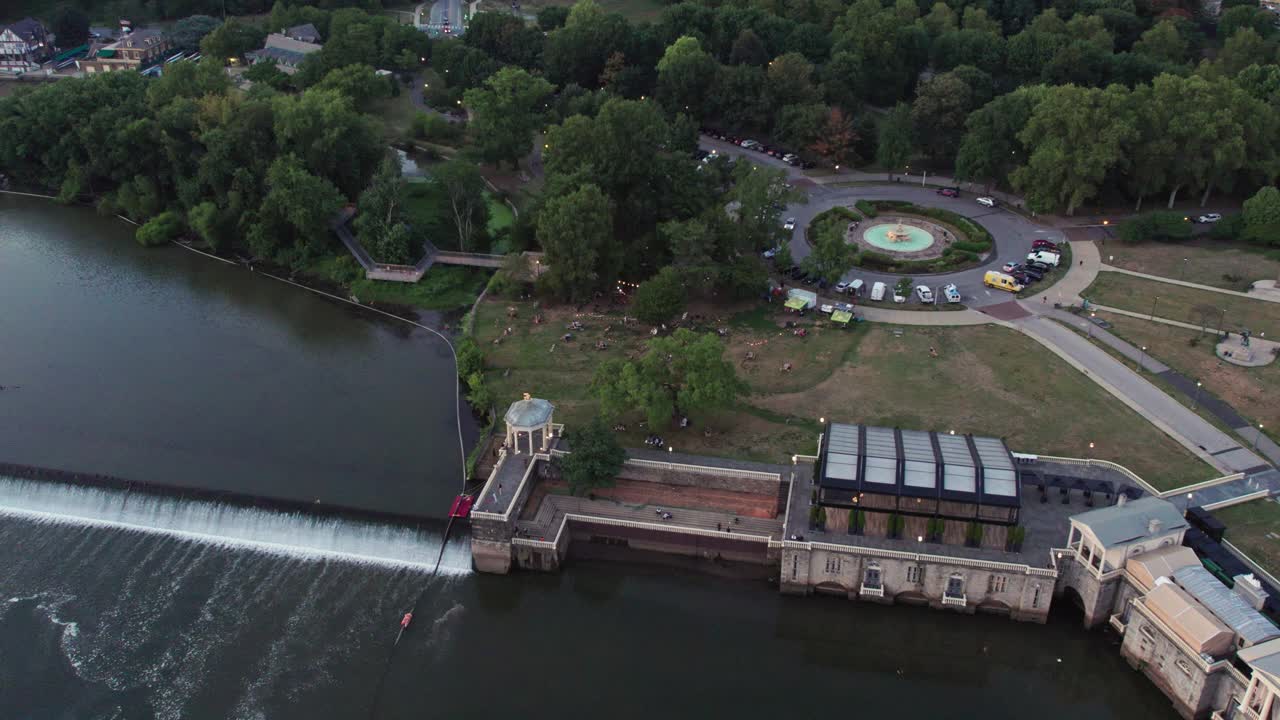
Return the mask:
POLYGON ((1116 268, 1239 292, 1249 290, 1253 281, 1280 277, 1280 252, 1252 245, 1108 242, 1101 250, 1103 260, 1116 268))

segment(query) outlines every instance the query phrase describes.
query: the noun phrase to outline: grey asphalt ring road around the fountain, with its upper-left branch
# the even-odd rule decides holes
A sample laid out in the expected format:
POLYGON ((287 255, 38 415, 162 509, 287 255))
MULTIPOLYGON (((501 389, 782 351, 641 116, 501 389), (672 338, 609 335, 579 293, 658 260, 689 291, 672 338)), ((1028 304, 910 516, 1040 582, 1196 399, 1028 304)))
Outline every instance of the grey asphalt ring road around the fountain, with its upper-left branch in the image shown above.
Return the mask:
MULTIPOLYGON (((832 208, 846 206, 849 209, 854 209, 854 202, 858 200, 906 200, 925 208, 941 208, 969 218, 974 223, 984 227, 995 240, 995 251, 986 263, 975 268, 969 268, 968 270, 910 277, 913 278, 914 284, 928 284, 929 287, 933 287, 934 291, 947 283, 955 283, 965 305, 970 307, 983 307, 986 305, 996 305, 1014 300, 1014 296, 1007 292, 986 287, 982 283, 983 273, 987 270, 998 270, 1001 265, 1009 261, 1020 263, 1025 260, 1027 254, 1032 250, 1032 242, 1036 240, 1043 238, 1052 242, 1065 241, 1062 232, 1059 229, 1037 225, 1018 213, 1006 210, 1002 206, 986 208, 978 205, 978 202, 975 202, 978 196, 972 192, 961 192, 960 197, 943 197, 938 195, 933 187, 922 187, 908 182, 877 182, 835 187, 829 183, 823 184, 814 182, 814 179, 801 173, 799 168, 792 168, 776 158, 742 150, 735 145, 713 140, 707 136, 701 136, 700 146, 704 150, 714 150, 721 155, 742 156, 758 165, 769 165, 785 169, 787 172, 788 182, 808 195, 806 202, 790 205, 782 211, 783 219, 796 219, 796 229, 791 236, 791 256, 797 263, 806 258, 810 251, 809 242, 805 240, 805 228, 809 227, 810 220, 813 220, 815 215, 832 208)), ((852 179, 854 178, 851 177, 850 181, 852 179)), ((845 273, 844 279, 861 279, 867 283, 867 292, 869 292, 872 283, 877 281, 892 287, 901 277, 902 275, 893 273, 881 273, 854 268, 849 273, 845 273)), ((1034 284, 1032 287, 1036 288, 1034 284)), ((868 305, 864 305, 864 307, 867 306, 868 305)), ((876 305, 869 306, 876 307, 876 305)), ((893 307, 893 304, 884 304, 884 307, 893 307)))

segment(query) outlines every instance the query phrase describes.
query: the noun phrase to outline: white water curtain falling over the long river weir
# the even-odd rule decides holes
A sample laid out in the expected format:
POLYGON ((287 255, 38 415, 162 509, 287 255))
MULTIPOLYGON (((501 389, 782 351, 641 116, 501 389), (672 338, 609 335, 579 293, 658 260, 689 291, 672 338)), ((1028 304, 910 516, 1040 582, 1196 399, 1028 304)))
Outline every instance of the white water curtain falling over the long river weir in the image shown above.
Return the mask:
MULTIPOLYGON (((96 525, 183 537, 196 542, 251 547, 265 552, 338 557, 351 562, 431 569, 443 525, 413 528, 210 500, 186 500, 0 477, 0 516, 36 523, 96 525)), ((468 543, 451 542, 440 574, 471 571, 468 543)))

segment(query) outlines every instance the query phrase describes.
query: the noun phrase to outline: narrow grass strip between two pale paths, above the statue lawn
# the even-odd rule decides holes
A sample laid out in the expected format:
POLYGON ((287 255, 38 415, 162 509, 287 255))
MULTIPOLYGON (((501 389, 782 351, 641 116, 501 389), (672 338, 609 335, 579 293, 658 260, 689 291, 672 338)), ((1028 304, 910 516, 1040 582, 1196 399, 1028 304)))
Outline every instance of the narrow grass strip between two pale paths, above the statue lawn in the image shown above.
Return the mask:
POLYGON ((1225 310, 1225 324, 1229 331, 1249 328, 1254 334, 1267 333, 1271 337, 1280 337, 1280 302, 1236 297, 1120 273, 1098 273, 1098 279, 1080 295, 1091 302, 1144 315, 1152 311, 1155 304, 1157 318, 1181 320, 1193 325, 1207 322, 1208 327, 1215 327, 1225 310))

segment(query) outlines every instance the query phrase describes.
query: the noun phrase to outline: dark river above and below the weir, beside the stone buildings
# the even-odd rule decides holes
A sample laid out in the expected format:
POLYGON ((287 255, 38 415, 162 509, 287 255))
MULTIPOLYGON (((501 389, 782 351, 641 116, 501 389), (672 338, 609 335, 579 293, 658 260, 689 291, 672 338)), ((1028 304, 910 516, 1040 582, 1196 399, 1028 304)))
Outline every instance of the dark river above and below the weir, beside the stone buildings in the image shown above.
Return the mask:
MULTIPOLYGON (((438 340, 129 234, 0 197, 0 461, 443 514, 438 340)), ((0 715, 1174 716, 1069 611, 1025 625, 600 561, 495 578, 465 542, 428 578, 442 527, 0 478, 0 715)))

